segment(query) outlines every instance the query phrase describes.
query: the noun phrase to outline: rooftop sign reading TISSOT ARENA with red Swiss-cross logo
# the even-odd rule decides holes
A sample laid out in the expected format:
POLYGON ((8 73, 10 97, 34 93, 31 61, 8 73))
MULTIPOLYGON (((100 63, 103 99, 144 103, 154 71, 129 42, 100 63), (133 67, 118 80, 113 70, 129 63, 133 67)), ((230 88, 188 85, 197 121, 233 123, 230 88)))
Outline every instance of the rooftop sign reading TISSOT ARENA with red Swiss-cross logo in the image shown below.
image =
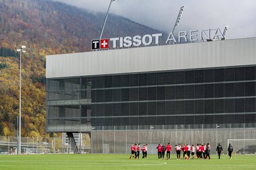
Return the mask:
MULTIPOLYGON (((92 40, 92 50, 108 49, 108 48, 129 48, 131 46, 149 46, 151 44, 159 44, 162 33, 159 34, 146 34, 144 36, 125 36, 117 38, 105 38, 100 40, 92 40)), ((209 30, 191 30, 189 32, 178 32, 177 36, 174 36, 170 32, 166 39, 166 44, 170 42, 197 42, 199 40, 219 40, 224 38, 224 34, 220 31, 220 28, 209 30)))

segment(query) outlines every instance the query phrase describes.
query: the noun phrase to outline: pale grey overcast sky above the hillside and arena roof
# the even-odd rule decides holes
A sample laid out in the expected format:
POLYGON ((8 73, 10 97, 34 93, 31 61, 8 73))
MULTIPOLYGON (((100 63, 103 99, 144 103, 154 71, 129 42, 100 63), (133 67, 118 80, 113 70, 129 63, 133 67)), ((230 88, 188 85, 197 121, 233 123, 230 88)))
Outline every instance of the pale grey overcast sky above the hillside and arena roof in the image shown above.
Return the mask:
MULTIPOLYGON (((106 13, 110 0, 53 0, 106 13)), ((256 37, 256 0, 115 0, 110 13, 170 32, 185 6, 176 31, 228 26, 227 39, 256 37)))

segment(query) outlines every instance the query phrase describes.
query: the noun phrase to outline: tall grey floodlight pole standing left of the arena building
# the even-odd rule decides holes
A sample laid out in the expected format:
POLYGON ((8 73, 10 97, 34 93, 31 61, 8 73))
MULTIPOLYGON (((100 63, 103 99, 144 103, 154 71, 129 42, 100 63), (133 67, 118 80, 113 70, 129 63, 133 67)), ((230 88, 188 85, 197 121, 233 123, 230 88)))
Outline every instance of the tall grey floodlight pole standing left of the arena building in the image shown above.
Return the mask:
POLYGON ((26 52, 26 46, 20 46, 17 49, 20 52, 20 106, 19 106, 19 140, 18 140, 18 154, 22 152, 22 53, 26 52))

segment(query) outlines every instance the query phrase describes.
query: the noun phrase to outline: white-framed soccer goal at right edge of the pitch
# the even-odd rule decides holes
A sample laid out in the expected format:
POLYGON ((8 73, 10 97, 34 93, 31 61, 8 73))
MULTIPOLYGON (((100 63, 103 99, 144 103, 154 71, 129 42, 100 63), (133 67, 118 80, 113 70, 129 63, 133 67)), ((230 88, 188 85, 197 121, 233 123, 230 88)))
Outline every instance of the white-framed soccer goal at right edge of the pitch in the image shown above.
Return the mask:
POLYGON ((256 154, 256 139, 228 139, 233 146, 233 153, 237 155, 256 154))

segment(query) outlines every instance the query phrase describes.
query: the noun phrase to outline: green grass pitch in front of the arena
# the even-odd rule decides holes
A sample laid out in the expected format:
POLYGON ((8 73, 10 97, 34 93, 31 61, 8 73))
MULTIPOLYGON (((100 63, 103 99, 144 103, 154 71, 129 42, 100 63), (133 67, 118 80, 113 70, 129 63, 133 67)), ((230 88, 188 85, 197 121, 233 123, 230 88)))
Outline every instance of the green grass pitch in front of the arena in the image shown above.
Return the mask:
POLYGON ((129 155, 0 155, 0 169, 256 169, 255 155, 234 155, 229 159, 222 155, 212 155, 211 160, 158 160, 156 155, 148 155, 146 160, 129 159, 129 155))

